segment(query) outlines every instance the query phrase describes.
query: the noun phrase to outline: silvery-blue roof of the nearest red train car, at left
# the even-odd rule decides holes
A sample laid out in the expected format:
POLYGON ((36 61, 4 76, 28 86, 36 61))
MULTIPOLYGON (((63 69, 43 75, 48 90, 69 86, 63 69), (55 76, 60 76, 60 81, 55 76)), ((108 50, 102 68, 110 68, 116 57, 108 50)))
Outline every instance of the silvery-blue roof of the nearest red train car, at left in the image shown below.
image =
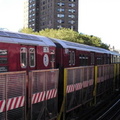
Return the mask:
POLYGON ((48 40, 47 37, 9 31, 0 31, 0 42, 36 46, 56 46, 53 42, 48 40))

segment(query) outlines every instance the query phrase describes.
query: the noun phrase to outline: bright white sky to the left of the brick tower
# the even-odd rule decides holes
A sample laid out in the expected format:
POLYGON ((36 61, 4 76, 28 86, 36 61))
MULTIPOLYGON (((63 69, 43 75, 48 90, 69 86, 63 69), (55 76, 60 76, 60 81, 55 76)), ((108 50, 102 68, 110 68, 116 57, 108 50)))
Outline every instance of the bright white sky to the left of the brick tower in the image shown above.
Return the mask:
POLYGON ((0 28, 17 32, 23 27, 23 1, 0 0, 0 28))

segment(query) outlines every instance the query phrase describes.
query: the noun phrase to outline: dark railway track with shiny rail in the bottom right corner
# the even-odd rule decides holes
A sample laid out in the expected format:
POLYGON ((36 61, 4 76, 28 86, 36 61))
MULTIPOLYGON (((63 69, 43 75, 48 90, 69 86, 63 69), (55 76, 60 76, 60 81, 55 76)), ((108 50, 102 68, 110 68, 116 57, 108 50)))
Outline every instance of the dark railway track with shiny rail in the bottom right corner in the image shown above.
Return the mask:
MULTIPOLYGON (((119 120, 120 119, 120 95, 113 95, 104 102, 83 111, 79 119, 82 120, 119 120)), ((76 119, 76 120, 79 120, 76 119)))

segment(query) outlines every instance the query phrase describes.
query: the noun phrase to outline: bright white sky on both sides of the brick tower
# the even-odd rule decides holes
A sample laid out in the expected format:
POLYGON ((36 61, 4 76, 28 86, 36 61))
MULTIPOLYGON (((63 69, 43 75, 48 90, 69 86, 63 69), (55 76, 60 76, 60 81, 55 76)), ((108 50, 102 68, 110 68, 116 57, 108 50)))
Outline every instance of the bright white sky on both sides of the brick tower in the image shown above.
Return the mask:
MULTIPOLYGON (((0 28, 23 27, 23 1, 0 0, 0 28)), ((79 32, 120 50, 120 0, 79 0, 79 32)))

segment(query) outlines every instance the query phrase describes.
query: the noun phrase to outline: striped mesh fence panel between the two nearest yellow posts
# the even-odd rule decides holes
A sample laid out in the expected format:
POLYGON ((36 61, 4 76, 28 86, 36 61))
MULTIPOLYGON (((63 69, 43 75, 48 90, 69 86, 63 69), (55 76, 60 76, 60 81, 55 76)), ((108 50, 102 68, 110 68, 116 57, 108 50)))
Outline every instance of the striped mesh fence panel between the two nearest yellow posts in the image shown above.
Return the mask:
POLYGON ((66 111, 69 112, 91 100, 94 67, 66 68, 66 111))

